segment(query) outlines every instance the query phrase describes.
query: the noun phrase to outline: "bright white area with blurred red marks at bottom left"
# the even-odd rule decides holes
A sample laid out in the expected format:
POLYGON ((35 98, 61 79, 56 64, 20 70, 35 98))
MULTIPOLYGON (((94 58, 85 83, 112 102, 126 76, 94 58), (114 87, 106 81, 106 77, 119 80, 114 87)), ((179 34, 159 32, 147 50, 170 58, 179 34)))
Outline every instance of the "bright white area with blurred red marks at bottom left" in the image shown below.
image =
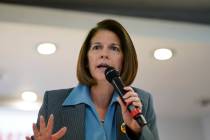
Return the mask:
POLYGON ((32 123, 36 122, 37 111, 20 111, 0 108, 0 140, 24 140, 32 133, 32 123))

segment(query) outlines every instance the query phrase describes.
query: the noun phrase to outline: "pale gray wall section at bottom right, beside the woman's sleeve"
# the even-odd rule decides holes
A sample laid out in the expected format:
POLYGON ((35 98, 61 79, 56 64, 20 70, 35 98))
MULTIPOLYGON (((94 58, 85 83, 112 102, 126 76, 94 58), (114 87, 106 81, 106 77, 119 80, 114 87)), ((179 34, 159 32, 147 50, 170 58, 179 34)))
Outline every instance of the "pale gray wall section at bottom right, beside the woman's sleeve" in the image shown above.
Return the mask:
POLYGON ((199 119, 159 120, 158 129, 160 140, 205 140, 199 119))

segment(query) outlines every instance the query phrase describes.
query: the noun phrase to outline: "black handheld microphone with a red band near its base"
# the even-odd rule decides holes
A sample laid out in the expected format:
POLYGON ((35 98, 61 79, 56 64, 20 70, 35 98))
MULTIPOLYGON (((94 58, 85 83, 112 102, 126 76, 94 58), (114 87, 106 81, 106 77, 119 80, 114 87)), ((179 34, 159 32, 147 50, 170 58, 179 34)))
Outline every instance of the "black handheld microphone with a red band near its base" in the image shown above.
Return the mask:
MULTIPOLYGON (((123 99, 123 95, 127 92, 124 90, 124 83, 122 82, 120 78, 120 74, 117 70, 115 70, 113 67, 108 66, 107 69, 105 70, 105 77, 106 79, 112 84, 112 86, 117 90, 117 93, 119 94, 120 98, 122 99, 123 103, 125 103, 123 99)), ((130 115, 137 121, 137 123, 141 126, 144 127, 147 125, 147 121, 144 118, 142 114, 142 110, 140 108, 135 107, 132 105, 132 102, 127 105, 127 109, 130 113, 130 115)))

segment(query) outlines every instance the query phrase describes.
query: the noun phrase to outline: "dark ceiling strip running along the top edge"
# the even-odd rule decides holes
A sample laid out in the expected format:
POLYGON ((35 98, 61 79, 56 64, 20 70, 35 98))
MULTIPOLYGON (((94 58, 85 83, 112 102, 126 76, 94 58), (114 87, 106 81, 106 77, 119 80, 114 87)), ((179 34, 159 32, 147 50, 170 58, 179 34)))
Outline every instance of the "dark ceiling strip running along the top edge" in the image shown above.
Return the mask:
POLYGON ((209 0, 1 0, 0 2, 210 24, 209 0))

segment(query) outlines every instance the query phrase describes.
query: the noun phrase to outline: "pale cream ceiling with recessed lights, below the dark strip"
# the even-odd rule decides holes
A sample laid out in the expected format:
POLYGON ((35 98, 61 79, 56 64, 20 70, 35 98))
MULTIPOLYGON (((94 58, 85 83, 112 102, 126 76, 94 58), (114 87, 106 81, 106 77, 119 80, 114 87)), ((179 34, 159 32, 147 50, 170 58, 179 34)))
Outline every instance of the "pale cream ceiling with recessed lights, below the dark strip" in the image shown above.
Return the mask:
POLYGON ((105 18, 120 21, 130 33, 140 62, 133 85, 152 93, 158 117, 200 118, 210 112, 201 104, 210 99, 208 24, 9 4, 0 4, 0 105, 12 106, 24 90, 37 92, 41 102, 46 90, 75 86, 81 44, 105 18), (36 52, 45 41, 57 44, 55 54, 36 52), (152 52, 161 47, 171 48, 174 57, 156 61, 152 52))

